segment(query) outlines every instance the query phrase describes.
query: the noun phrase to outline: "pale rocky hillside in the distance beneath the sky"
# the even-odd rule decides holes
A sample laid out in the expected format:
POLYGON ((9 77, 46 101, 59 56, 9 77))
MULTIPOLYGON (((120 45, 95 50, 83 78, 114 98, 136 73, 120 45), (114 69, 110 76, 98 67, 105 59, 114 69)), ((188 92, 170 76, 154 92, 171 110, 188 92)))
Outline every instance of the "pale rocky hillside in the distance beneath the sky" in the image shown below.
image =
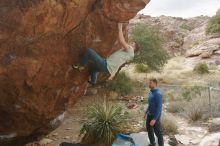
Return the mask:
POLYGON ((137 23, 159 26, 164 38, 164 48, 171 56, 187 57, 188 65, 207 61, 209 65, 220 65, 220 35, 206 35, 205 29, 210 17, 198 16, 183 19, 179 17, 137 15, 130 21, 130 27, 137 23))

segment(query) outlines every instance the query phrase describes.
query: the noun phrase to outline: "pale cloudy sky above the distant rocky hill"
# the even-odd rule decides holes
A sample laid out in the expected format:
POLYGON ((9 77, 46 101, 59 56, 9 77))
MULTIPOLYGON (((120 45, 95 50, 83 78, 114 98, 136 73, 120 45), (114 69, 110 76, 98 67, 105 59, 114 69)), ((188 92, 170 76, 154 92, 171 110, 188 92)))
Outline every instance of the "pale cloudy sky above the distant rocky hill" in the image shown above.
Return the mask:
POLYGON ((140 13, 151 16, 194 17, 213 16, 220 8, 220 0, 151 0, 140 13))

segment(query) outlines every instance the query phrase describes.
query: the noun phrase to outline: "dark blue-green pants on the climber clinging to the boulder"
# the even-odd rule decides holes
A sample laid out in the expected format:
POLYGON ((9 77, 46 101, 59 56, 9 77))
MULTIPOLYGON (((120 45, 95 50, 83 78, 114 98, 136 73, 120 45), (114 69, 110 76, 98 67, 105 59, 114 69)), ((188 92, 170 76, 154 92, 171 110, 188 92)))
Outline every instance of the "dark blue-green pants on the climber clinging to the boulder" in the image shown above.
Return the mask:
POLYGON ((91 83, 96 84, 97 72, 109 73, 106 59, 102 58, 93 49, 87 49, 80 59, 80 65, 85 66, 92 61, 90 68, 91 83))

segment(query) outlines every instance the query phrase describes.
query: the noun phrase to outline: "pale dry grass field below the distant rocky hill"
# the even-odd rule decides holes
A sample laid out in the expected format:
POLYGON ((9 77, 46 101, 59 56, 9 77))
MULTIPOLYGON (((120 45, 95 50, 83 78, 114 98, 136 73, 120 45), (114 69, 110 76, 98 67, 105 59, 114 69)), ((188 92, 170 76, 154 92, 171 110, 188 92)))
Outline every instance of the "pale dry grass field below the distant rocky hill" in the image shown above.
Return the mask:
POLYGON ((162 84, 208 84, 220 81, 220 69, 210 70, 209 74, 197 74, 193 71, 193 66, 185 64, 184 57, 174 57, 168 61, 164 69, 158 72, 147 74, 148 78, 155 77, 162 84))

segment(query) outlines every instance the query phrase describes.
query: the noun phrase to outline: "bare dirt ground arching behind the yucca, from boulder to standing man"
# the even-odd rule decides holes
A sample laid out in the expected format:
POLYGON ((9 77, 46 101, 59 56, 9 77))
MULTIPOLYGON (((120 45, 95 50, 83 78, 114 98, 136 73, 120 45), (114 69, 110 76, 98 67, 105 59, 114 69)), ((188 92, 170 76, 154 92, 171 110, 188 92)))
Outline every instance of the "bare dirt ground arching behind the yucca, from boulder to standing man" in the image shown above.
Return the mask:
MULTIPOLYGON (((100 87, 98 87, 100 88, 100 87)), ((45 138, 27 144, 26 146, 59 146, 62 142, 79 143, 81 138, 79 137, 80 127, 82 123, 86 120, 86 110, 95 101, 108 100, 113 103, 123 104, 127 106, 129 103, 127 100, 122 101, 119 97, 112 97, 111 99, 106 95, 106 91, 103 89, 97 89, 98 93, 95 95, 88 95, 80 97, 77 103, 68 109, 65 113, 65 118, 63 123, 47 135, 45 138)), ((134 98, 135 95, 131 95, 128 98, 134 98)), ((131 99, 132 100, 132 99, 131 99)), ((137 102, 137 101, 135 101, 137 102)), ((146 107, 146 103, 137 102, 138 107, 135 109, 128 109, 130 115, 130 132, 139 132, 144 128, 143 113, 146 107)))

